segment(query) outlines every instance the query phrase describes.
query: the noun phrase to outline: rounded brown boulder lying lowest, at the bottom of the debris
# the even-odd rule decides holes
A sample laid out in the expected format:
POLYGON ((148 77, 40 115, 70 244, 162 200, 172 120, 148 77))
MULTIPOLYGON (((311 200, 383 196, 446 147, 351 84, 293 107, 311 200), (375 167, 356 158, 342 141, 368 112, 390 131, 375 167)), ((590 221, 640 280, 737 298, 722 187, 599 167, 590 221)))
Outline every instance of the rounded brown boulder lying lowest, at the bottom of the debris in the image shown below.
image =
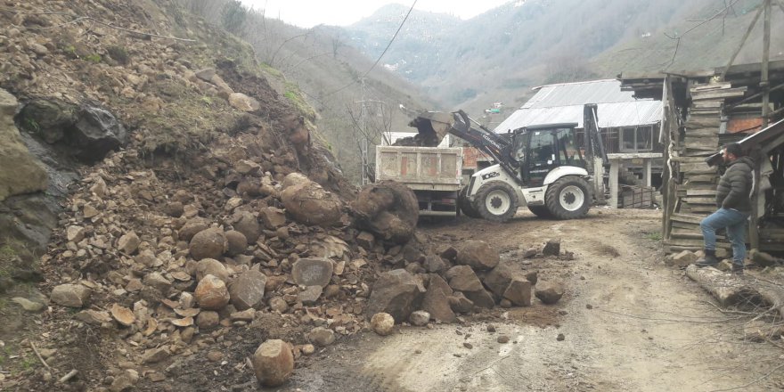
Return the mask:
POLYGON ((250 361, 256 379, 265 387, 278 387, 294 372, 294 355, 283 340, 266 340, 253 353, 250 361))

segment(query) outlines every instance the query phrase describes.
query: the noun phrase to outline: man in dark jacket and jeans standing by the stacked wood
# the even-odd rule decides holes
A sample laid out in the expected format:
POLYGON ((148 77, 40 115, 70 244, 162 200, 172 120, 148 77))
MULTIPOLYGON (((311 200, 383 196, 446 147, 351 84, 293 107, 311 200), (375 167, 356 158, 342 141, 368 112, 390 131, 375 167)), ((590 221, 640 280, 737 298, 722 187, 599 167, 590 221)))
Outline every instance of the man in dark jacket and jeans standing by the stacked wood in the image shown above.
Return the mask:
POLYGON ((719 209, 699 223, 705 241, 705 257, 697 260, 697 266, 719 264, 716 258, 716 230, 726 228, 732 243, 732 272, 743 274, 746 221, 751 215, 754 161, 744 156, 739 143, 725 145, 722 158, 727 165, 727 171, 716 187, 716 207, 719 209))

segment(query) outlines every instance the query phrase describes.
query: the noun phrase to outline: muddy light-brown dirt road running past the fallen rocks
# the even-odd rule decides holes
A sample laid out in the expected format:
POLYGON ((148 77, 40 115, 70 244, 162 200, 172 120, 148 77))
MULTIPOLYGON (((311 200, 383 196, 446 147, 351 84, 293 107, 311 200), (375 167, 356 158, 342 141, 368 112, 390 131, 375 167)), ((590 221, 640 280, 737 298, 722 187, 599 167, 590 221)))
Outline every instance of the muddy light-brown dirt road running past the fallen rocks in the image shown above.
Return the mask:
POLYGON ((768 391, 782 351, 741 339, 746 314, 720 311, 663 264, 656 211, 595 209, 576 221, 528 214, 508 225, 425 225, 434 238, 490 241, 502 257, 565 283, 557 306, 496 309, 462 325, 372 334, 315 355, 286 391, 768 391), (519 249, 560 238, 574 260, 519 249), (481 320, 486 320, 482 322, 481 320), (495 332, 487 326, 493 325, 495 332), (563 334, 563 340, 557 339, 563 334), (499 336, 510 338, 498 343, 499 336), (466 345, 465 343, 468 343, 466 345), (769 375, 769 373, 771 373, 769 375))

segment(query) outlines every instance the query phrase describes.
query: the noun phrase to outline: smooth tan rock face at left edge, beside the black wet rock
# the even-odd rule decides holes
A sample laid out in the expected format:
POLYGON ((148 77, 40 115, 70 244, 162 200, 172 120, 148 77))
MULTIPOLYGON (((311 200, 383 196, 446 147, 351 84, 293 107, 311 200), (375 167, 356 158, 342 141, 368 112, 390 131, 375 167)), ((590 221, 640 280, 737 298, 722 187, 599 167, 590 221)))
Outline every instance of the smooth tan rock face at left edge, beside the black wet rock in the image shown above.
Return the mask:
POLYGON ((22 141, 13 123, 17 101, 0 89, 0 201, 7 197, 45 191, 49 184, 46 170, 22 141))

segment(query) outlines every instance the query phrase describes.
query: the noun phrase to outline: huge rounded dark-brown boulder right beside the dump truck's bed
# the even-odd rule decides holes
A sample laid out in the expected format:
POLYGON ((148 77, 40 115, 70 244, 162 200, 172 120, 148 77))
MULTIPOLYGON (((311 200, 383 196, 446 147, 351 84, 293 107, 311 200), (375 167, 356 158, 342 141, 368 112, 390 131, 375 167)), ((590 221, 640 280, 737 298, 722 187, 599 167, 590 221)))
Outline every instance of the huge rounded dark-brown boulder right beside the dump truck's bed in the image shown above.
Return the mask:
POLYGON ((351 208, 358 228, 400 244, 411 240, 420 211, 413 191, 395 181, 365 185, 351 208))

